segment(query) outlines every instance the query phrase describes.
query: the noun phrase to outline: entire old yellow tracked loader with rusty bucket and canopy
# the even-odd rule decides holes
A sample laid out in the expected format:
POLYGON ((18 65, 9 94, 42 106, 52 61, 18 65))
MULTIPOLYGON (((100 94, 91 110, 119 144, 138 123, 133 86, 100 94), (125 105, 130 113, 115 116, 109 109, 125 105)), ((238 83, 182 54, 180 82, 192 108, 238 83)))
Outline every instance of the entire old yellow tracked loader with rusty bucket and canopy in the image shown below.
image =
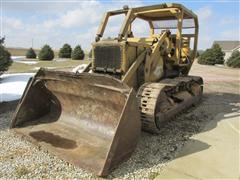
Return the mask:
MULTIPOLYGON (((139 28, 138 28, 139 29, 139 28)), ((107 12, 82 73, 40 69, 29 80, 11 127, 49 151, 106 176, 134 151, 141 129, 158 133, 165 121, 199 101, 203 80, 189 76, 198 18, 180 4, 107 12), (112 16, 119 33, 104 39, 112 16), (149 29, 135 37, 134 22, 149 29)))

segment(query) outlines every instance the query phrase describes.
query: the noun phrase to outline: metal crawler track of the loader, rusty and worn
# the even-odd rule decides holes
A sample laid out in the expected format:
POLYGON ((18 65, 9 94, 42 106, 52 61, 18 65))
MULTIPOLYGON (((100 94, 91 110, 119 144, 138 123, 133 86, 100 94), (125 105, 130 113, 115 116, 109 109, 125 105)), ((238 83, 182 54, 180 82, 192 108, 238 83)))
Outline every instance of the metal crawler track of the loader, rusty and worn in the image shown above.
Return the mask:
POLYGON ((159 133, 163 122, 200 100, 202 84, 197 76, 143 84, 137 93, 143 130, 159 133))

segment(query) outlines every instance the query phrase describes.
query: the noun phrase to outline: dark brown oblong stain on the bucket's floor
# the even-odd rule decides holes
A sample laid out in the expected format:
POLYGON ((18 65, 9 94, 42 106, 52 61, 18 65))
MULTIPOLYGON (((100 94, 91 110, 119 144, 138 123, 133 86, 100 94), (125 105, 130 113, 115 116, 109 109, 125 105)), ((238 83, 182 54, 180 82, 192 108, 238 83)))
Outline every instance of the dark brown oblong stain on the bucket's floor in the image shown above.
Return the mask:
POLYGON ((37 141, 42 141, 51 144, 54 147, 59 147, 63 149, 74 149, 77 147, 77 143, 71 139, 63 138, 59 135, 45 131, 36 131, 29 133, 31 137, 37 141))

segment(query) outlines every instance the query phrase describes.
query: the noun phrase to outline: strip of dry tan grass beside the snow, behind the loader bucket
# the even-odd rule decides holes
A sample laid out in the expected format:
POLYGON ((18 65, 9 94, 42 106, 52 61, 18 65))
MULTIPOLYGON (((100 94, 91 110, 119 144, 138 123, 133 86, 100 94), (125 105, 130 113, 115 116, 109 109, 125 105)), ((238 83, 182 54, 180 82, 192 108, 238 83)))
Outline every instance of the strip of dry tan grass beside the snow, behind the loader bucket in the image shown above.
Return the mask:
POLYGON ((36 64, 24 64, 19 62, 13 62, 8 69, 8 73, 22 73, 22 72, 36 72, 39 67, 51 68, 51 69, 71 69, 80 64, 88 64, 89 60, 64 60, 64 61, 39 61, 36 60, 36 64))

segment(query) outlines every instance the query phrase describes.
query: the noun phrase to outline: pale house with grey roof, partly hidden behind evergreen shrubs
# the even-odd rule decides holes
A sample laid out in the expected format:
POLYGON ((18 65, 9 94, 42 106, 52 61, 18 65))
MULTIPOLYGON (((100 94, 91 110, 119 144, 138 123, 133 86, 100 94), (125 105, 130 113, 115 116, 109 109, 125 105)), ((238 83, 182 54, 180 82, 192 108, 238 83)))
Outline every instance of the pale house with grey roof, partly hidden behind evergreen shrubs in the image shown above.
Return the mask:
POLYGON ((222 48, 222 51, 225 53, 224 61, 228 60, 228 58, 231 56, 232 52, 235 50, 240 51, 240 41, 214 41, 214 43, 217 43, 222 48))

